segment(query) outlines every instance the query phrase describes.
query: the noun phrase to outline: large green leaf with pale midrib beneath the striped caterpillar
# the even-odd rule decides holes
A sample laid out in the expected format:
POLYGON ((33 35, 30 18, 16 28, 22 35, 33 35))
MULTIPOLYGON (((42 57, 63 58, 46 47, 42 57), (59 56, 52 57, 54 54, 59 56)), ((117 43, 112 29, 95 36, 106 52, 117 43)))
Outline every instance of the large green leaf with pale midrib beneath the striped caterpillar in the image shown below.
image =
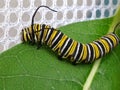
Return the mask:
MULTIPOLYGON (((82 43, 113 31, 111 18, 78 22, 59 28, 82 43)), ((116 21, 115 21, 116 20, 116 21)), ((0 54, 0 90, 120 90, 120 45, 93 64, 60 61, 47 46, 19 44, 0 54)))

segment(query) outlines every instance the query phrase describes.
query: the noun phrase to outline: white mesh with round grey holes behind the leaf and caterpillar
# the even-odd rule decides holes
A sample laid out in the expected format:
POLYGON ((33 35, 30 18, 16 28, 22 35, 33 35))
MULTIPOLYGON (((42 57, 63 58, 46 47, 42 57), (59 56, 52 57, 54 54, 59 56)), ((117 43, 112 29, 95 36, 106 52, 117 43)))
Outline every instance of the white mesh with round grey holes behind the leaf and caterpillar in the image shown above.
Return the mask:
POLYGON ((30 26, 35 9, 41 8, 36 23, 60 26, 114 15, 120 0, 0 0, 0 53, 21 43, 21 30, 30 26))

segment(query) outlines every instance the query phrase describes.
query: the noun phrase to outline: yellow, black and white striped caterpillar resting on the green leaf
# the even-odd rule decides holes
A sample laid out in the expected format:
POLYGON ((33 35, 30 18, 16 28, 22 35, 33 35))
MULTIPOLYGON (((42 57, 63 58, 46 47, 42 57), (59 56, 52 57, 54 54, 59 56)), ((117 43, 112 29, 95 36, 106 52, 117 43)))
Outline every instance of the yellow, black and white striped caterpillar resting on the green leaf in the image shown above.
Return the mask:
MULTIPOLYGON (((47 6, 40 7, 50 9, 47 6)), ((116 34, 116 28, 117 30, 120 28, 120 23, 116 25, 114 32, 91 43, 82 44, 49 25, 34 24, 34 16, 40 7, 33 14, 32 25, 22 30, 23 42, 37 43, 38 48, 42 44, 46 44, 58 54, 60 59, 67 58, 73 64, 80 62, 91 63, 109 53, 120 43, 120 37, 116 34)))

